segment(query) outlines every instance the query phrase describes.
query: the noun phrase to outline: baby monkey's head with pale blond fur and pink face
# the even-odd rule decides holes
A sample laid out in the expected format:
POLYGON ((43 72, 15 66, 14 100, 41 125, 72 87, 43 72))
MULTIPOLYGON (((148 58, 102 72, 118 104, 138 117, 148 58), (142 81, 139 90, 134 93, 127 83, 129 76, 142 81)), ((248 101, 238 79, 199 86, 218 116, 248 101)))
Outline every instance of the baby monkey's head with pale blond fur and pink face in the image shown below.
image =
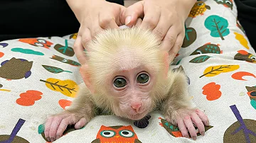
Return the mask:
POLYGON ((169 56, 150 30, 105 30, 92 40, 80 68, 95 103, 120 117, 144 118, 166 89, 169 56))

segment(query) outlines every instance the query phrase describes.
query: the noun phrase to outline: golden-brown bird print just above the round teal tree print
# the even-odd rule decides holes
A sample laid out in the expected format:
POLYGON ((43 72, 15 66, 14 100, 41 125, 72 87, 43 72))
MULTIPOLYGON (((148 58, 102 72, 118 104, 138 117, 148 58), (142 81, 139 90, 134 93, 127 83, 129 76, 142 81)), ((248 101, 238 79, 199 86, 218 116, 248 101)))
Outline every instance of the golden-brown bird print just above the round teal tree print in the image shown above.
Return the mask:
POLYGON ((207 6, 203 1, 197 1, 191 9, 188 17, 195 18, 196 16, 203 16, 203 13, 206 12, 206 9, 210 10, 210 6, 207 6))

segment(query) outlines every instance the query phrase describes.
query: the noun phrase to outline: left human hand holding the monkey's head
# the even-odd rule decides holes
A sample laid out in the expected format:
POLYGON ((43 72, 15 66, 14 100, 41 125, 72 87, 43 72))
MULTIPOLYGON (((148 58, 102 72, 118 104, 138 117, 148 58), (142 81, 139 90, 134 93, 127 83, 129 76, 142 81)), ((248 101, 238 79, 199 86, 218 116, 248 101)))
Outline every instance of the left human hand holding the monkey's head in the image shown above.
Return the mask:
POLYGON ((124 25, 121 16, 125 7, 105 0, 67 0, 70 8, 80 22, 78 37, 74 43, 75 55, 78 61, 85 63, 84 50, 86 45, 101 30, 119 28, 124 25))

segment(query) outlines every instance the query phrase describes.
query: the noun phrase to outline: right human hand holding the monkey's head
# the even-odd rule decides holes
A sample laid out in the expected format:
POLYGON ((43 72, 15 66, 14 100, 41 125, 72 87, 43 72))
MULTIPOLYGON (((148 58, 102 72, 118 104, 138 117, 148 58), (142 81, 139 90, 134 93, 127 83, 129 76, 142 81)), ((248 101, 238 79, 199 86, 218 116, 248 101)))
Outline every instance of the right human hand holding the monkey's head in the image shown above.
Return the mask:
POLYGON ((143 0, 129 6, 124 12, 125 24, 134 25, 143 18, 142 27, 152 30, 160 40, 161 48, 172 60, 181 49, 185 36, 185 21, 196 0, 143 0))

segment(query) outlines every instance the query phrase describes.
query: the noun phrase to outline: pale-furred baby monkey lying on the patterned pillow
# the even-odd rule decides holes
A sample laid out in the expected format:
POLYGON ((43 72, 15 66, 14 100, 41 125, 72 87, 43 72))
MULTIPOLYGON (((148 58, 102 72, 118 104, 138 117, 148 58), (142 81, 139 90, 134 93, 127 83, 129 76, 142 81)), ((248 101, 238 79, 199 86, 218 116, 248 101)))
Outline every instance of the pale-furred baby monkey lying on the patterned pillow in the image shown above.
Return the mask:
POLYGON ((186 75, 169 69, 169 54, 159 49, 156 35, 139 26, 109 29, 88 45, 80 67, 84 84, 70 108, 46 121, 45 137, 53 142, 68 125, 80 129, 102 112, 140 120, 158 110, 183 137, 205 134, 207 116, 192 105, 186 75), (193 125, 194 124, 194 125, 193 125))

